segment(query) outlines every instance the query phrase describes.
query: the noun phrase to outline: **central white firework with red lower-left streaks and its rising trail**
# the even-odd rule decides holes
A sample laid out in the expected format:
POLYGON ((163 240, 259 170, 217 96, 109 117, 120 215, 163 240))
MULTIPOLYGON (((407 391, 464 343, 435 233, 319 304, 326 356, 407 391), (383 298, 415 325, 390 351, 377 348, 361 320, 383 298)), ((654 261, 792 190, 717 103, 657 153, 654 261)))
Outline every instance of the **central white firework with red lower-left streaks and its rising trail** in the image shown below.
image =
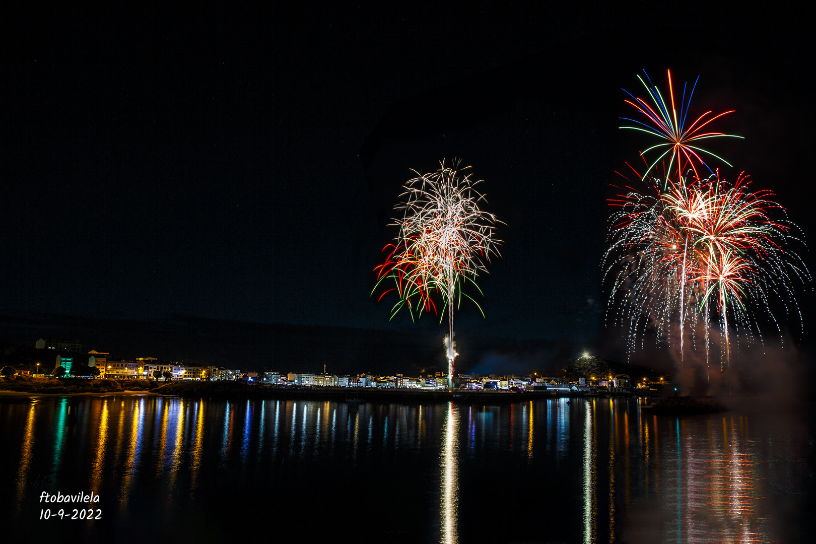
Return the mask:
POLYGON ((490 255, 499 254, 497 248, 501 243, 494 239, 496 223, 500 222, 479 208, 486 202, 476 188, 481 180, 473 181, 470 173, 463 174, 470 166, 459 168, 459 164, 455 160, 448 167, 445 161, 440 161, 439 169, 430 174, 413 170, 417 177, 403 186, 402 202, 394 208, 402 212, 401 219, 392 223, 399 228, 396 243, 385 246, 384 252, 388 253, 385 263, 375 268, 375 290, 386 278, 394 282, 394 287, 379 297, 381 300, 385 294, 396 292, 398 300, 391 317, 403 307, 408 308, 412 319, 424 312, 444 316, 447 309, 449 387, 453 387, 457 355, 453 341, 454 306, 460 306, 462 295, 473 300, 463 292, 463 282, 471 282, 478 290, 476 278, 479 272, 487 272, 490 255), (441 310, 435 298, 441 299, 441 310))

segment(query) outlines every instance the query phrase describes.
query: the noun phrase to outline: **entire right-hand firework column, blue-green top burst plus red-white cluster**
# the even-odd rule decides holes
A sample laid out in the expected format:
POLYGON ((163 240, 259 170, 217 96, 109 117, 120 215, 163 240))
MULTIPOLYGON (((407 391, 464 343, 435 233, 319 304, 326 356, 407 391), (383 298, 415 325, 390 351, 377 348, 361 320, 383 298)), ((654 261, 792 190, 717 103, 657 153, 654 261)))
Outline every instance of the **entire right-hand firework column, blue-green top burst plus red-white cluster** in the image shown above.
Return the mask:
POLYGON ((721 360, 727 364, 730 326, 737 333, 747 329, 761 338, 758 318, 765 316, 781 334, 772 301, 781 302, 787 314, 798 314, 801 325, 792 285, 809 281, 810 276, 796 253, 787 250, 789 242, 799 241, 792 234, 798 229, 772 200, 773 193, 750 191, 743 175, 726 182, 704 160, 713 157, 730 166, 700 145, 707 139, 739 138, 710 128, 733 110, 694 117, 689 110, 696 81, 688 100, 688 85, 683 86, 678 109, 671 71, 668 100, 645 71, 644 76, 645 80, 638 79, 649 98, 627 92, 632 100, 626 102, 640 115, 621 117, 633 124, 621 128, 661 141, 641 152, 642 175, 628 165, 637 175, 636 184, 645 182, 645 187, 627 185, 610 202, 620 207, 611 218, 610 247, 604 255, 605 281, 613 287, 610 311, 619 308, 621 324, 628 321, 630 352, 646 326, 658 339, 670 343, 679 339, 681 368, 686 329, 694 345, 698 325, 703 325, 708 361, 709 332, 718 323, 725 340, 721 360), (711 175, 700 175, 701 167, 711 175))

